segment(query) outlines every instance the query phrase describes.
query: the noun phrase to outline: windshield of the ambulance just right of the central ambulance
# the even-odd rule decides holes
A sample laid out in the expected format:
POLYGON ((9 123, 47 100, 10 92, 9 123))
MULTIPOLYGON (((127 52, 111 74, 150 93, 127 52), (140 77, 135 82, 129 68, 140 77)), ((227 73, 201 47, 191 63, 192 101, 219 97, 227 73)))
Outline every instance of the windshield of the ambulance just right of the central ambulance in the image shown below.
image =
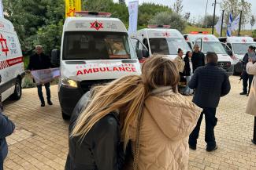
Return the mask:
POLYGON ((176 55, 178 49, 185 52, 191 49, 184 38, 150 38, 150 49, 152 54, 176 55))

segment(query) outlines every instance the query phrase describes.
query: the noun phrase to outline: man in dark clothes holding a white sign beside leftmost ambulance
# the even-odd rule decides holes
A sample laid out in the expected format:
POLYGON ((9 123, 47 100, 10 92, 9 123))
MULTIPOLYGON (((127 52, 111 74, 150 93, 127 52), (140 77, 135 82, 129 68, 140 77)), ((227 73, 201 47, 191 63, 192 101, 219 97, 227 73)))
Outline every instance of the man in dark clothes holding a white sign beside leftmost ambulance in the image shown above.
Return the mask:
MULTIPOLYGON (((43 53, 42 45, 35 46, 35 54, 30 56, 29 63, 28 63, 28 70, 35 71, 35 70, 42 70, 50 68, 50 57, 46 56, 43 53)), ((50 101, 50 82, 44 84, 46 88, 46 96, 47 96, 47 103, 52 105, 53 103, 50 101)), ((43 92, 42 92, 42 85, 37 85, 39 99, 41 101, 41 107, 44 107, 46 104, 43 99, 43 92)))

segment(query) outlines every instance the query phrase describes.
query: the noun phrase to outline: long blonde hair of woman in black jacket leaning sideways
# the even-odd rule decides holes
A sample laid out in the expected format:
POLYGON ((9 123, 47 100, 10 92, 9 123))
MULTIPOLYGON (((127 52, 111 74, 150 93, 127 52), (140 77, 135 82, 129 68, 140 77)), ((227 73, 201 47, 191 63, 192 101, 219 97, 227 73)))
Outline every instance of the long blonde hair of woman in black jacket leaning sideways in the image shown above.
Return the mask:
POLYGON ((143 80, 138 75, 125 76, 107 85, 95 87, 70 136, 83 139, 101 118, 111 111, 119 110, 121 139, 125 150, 130 138, 129 128, 135 125, 139 114, 142 114, 146 95, 143 80))

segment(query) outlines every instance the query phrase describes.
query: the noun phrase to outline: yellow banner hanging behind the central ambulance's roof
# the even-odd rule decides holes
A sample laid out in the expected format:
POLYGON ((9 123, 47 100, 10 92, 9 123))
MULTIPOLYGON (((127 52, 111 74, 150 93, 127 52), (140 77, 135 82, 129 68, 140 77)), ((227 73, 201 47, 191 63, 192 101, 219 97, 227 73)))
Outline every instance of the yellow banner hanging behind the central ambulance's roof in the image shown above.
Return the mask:
POLYGON ((75 16, 76 11, 81 9, 81 0, 65 0, 65 17, 75 16))

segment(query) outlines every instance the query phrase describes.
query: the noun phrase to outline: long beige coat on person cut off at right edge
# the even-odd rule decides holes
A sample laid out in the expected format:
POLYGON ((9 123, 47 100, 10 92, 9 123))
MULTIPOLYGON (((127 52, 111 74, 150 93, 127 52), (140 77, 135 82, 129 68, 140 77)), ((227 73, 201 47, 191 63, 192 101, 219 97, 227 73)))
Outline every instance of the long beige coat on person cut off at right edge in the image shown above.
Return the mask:
POLYGON ((250 86, 250 94, 248 98, 246 113, 256 116, 256 63, 247 63, 247 73, 253 74, 254 79, 250 86))

